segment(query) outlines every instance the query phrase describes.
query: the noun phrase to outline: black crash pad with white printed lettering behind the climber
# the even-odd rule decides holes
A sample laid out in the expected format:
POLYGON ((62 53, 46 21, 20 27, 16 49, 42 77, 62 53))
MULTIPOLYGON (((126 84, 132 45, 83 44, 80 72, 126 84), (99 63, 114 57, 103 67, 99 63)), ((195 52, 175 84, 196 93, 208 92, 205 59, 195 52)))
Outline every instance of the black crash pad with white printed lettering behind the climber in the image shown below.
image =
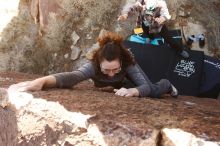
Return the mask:
POLYGON ((182 95, 197 96, 201 85, 204 53, 189 51, 190 58, 183 59, 168 45, 140 44, 125 41, 137 63, 152 82, 169 79, 182 95))

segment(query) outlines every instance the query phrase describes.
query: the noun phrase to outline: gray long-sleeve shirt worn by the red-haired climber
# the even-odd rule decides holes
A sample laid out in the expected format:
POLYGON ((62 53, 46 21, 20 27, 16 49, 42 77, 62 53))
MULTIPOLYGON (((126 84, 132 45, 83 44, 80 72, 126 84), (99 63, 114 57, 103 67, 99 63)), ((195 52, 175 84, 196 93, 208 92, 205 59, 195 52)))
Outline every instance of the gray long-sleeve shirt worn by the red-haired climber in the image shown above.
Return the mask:
POLYGON ((98 72, 92 62, 86 63, 75 71, 58 73, 54 74, 54 76, 56 78, 56 86, 60 88, 72 87, 90 78, 94 81, 95 86, 113 86, 115 88, 120 88, 124 79, 128 77, 136 85, 141 97, 148 96, 152 86, 152 83, 146 78, 146 75, 137 64, 130 65, 126 69, 122 68, 121 72, 111 78, 98 72))

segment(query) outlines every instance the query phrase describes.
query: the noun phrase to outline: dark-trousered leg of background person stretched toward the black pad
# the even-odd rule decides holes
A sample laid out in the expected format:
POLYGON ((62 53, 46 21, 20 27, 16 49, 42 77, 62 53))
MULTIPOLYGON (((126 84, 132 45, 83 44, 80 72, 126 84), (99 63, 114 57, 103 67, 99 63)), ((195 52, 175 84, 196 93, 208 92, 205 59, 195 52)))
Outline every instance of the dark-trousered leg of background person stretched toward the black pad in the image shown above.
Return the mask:
POLYGON ((163 25, 160 33, 159 33, 165 40, 166 43, 170 45, 171 48, 174 48, 177 50, 177 52, 184 58, 188 58, 189 54, 184 50, 184 47, 177 42, 173 40, 173 37, 169 33, 169 30, 167 29, 166 25, 163 25))

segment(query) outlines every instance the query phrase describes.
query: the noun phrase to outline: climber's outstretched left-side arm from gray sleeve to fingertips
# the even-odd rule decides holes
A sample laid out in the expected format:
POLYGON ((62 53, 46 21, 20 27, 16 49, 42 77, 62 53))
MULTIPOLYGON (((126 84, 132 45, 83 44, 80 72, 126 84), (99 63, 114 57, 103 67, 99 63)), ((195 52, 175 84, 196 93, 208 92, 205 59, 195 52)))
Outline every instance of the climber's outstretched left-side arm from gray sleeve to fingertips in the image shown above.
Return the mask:
POLYGON ((39 91, 43 88, 69 88, 75 84, 91 78, 95 75, 95 69, 92 63, 87 63, 73 72, 64 72, 37 78, 33 81, 21 82, 11 85, 9 90, 17 91, 39 91))

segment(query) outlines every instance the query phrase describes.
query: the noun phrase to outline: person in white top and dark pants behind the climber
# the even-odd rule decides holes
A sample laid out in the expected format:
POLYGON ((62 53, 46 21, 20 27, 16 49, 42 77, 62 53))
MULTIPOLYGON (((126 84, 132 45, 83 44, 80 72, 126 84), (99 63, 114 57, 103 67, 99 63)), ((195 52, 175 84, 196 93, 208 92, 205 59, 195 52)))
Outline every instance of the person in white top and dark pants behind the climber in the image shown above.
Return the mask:
POLYGON ((143 35, 147 35, 152 40, 154 34, 158 33, 166 43, 177 50, 179 55, 183 58, 189 58, 189 53, 185 47, 173 40, 165 25, 171 16, 164 0, 136 0, 135 3, 128 3, 119 15, 118 20, 126 20, 132 12, 139 12, 137 27, 142 27, 143 35))

